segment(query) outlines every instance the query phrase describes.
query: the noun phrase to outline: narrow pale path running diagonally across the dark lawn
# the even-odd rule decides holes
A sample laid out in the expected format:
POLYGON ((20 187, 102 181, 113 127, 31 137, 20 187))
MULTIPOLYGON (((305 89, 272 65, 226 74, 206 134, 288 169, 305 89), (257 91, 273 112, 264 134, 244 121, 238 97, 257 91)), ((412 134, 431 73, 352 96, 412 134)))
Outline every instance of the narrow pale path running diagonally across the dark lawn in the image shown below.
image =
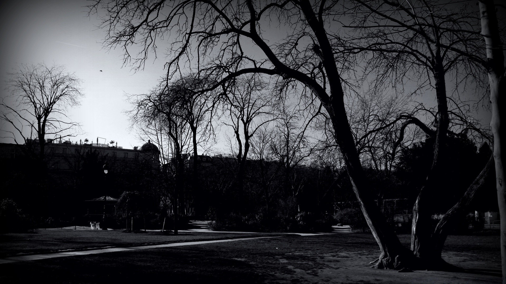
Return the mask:
POLYGON ((12 257, 1 258, 0 264, 13 263, 13 262, 18 262, 18 261, 29 261, 29 260, 55 258, 55 257, 79 256, 79 255, 112 253, 112 252, 121 252, 121 251, 155 249, 155 248, 170 248, 170 247, 191 246, 191 245, 201 245, 201 244, 211 244, 211 243, 223 243, 223 242, 235 242, 235 241, 247 241, 247 240, 280 238, 280 237, 281 236, 279 236, 279 235, 256 236, 256 237, 252 237, 252 238, 226 239, 226 240, 215 240, 215 241, 194 241, 194 242, 181 242, 181 243, 121 247, 121 248, 97 248, 97 249, 87 249, 87 250, 66 251, 66 252, 61 252, 61 253, 41 253, 41 254, 22 255, 22 256, 12 256, 12 257))

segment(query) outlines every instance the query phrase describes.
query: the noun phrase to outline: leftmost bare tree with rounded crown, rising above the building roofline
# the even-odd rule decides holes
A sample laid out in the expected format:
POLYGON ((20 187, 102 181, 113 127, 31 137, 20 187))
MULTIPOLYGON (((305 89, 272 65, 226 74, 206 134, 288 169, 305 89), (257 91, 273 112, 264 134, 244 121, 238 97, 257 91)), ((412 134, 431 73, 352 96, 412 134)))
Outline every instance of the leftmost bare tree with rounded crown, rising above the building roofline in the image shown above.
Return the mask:
POLYGON ((41 161, 45 159, 45 146, 49 137, 74 136, 79 124, 66 115, 68 108, 78 106, 84 96, 79 88, 81 80, 69 73, 65 66, 45 64, 21 65, 19 70, 8 73, 8 89, 11 95, 0 106, 0 119, 10 124, 12 131, 2 130, 19 144, 33 147, 41 161))

